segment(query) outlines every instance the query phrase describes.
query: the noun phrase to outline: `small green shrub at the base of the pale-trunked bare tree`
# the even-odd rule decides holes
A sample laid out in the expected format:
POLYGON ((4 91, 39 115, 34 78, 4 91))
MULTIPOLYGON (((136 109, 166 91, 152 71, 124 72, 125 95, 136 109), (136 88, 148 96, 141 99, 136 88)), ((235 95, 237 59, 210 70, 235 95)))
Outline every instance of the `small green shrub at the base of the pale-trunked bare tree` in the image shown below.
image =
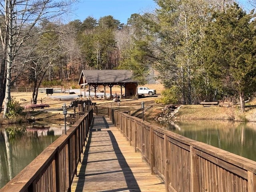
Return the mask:
POLYGON ((24 116, 24 107, 20 106, 20 103, 15 100, 15 98, 11 98, 11 100, 7 104, 8 113, 6 116, 8 118, 16 118, 18 116, 24 116))

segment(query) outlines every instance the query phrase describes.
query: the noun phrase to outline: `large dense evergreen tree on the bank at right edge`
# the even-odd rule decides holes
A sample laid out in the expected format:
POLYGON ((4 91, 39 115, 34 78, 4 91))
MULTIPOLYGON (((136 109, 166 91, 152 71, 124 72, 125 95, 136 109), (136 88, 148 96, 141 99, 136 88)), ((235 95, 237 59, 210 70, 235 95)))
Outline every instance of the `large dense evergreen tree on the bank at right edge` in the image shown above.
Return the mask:
POLYGON ((246 14, 235 3, 212 14, 205 35, 207 72, 224 92, 239 96, 242 111, 256 86, 255 27, 253 11, 246 14))

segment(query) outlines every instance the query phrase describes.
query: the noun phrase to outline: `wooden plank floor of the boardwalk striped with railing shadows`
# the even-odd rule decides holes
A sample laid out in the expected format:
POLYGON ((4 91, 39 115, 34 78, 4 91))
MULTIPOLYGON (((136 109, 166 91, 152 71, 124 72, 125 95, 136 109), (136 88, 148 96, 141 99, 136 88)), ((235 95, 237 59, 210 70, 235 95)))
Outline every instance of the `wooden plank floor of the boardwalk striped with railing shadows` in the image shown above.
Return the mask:
POLYGON ((165 184, 151 175, 126 138, 104 116, 94 116, 90 137, 78 164, 72 192, 164 192, 165 184))

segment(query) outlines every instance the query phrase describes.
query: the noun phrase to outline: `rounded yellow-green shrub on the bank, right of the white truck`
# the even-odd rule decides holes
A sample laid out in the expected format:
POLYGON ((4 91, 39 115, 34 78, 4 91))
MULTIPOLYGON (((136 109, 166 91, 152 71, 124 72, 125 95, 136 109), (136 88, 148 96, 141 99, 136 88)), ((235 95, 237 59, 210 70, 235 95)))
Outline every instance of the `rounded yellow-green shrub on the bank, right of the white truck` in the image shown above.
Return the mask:
POLYGON ((162 104, 176 104, 179 101, 180 91, 176 86, 163 90, 161 94, 163 98, 159 102, 162 104))

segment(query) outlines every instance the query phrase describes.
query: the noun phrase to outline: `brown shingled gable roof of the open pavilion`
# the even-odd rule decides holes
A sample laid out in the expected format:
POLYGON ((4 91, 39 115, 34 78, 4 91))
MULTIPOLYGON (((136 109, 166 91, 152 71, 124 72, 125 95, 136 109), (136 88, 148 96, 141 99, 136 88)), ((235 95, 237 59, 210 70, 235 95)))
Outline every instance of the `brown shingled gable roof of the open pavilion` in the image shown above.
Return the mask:
POLYGON ((128 70, 82 70, 79 84, 136 83, 128 70))

